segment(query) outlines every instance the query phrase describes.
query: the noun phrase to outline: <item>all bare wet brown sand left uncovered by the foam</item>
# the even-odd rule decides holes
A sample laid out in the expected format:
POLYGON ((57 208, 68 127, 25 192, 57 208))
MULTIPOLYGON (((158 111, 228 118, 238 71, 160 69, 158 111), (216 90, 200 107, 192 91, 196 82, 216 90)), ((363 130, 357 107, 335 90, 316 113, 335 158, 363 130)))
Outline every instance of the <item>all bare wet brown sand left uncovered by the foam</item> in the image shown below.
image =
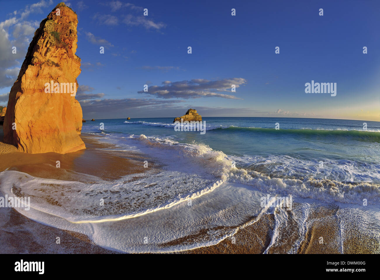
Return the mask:
MULTIPOLYGON (((9 168, 9 170, 25 172, 36 177, 83 182, 88 182, 91 175, 104 180, 113 180, 127 174, 141 175, 146 171, 143 167, 145 159, 141 158, 141 154, 113 151, 116 150, 116 147, 98 142, 97 136, 94 135, 82 134, 81 138, 87 148, 65 155, 56 153, 25 154, 15 152, 14 149, 8 147, 5 149, 5 153, 0 153, 0 171, 9 168), (60 168, 56 167, 57 161, 60 161, 60 168), (67 170, 76 172, 67 172, 67 170)), ((156 165, 155 168, 157 167, 156 165)), ((293 207, 297 207, 297 205, 295 204, 293 207)), ((380 245, 378 239, 359 231, 355 225, 346 232, 344 242, 340 241, 339 218, 336 215, 338 210, 339 208, 333 204, 327 207, 315 206, 312 208, 307 219, 308 230, 304 241, 301 242, 298 251, 294 253, 339 254, 342 253, 342 250, 344 253, 377 252, 380 245), (320 237, 323 237, 323 243, 320 242, 320 237)), ((233 237, 228 237, 216 245, 176 253, 261 254, 271 243, 274 228, 274 215, 262 215, 253 224, 239 229, 233 237)), ((173 240, 163 246, 196 240, 204 234, 207 234, 206 229, 198 234, 173 240)), ((280 242, 272 245, 268 253, 286 253, 297 238, 298 224, 290 212, 286 227, 279 231, 280 242)), ((99 247, 84 234, 37 223, 13 208, 0 208, 0 253, 117 252, 99 247), (59 244, 56 243, 56 237, 60 237, 59 244)))

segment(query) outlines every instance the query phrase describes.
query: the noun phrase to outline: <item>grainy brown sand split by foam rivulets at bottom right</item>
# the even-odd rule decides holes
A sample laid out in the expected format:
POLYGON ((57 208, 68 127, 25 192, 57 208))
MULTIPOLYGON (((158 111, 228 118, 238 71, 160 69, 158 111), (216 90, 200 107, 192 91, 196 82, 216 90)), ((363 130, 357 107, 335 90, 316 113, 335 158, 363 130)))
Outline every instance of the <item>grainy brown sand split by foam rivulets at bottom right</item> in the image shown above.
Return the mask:
MULTIPOLYGON (((293 204, 293 207, 297 207, 293 204)), ((297 254, 374 254, 378 253, 380 243, 376 232, 360 231, 353 225, 345 230, 345 239, 340 239, 340 224, 334 204, 318 206, 311 209, 307 223, 308 230, 301 242, 297 254), (323 238, 323 240, 321 239, 323 238)), ((355 224, 355 225, 354 225, 355 224)), ((271 243, 275 227, 274 215, 263 215, 255 223, 240 229, 232 237, 228 237, 217 245, 197 248, 179 253, 188 254, 262 254, 271 243)), ((279 231, 278 244, 272 244, 267 253, 284 254, 291 249, 298 238, 298 224, 288 216, 286 227, 279 231)), ((201 234, 201 233, 199 233, 201 234)), ((180 243, 176 240, 172 243, 180 243)))

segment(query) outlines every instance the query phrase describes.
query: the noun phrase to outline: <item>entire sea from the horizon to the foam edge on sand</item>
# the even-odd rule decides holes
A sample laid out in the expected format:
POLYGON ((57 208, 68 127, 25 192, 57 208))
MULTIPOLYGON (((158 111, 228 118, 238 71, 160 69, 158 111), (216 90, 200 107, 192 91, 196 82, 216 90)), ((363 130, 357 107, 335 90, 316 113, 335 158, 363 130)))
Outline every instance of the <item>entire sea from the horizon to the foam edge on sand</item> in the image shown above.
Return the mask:
POLYGON ((215 245, 265 214, 275 216, 265 252, 281 248, 280 253, 296 253, 310 229, 310 213, 318 207, 339 208, 334 215, 340 229, 333 242, 340 253, 347 250, 344 242, 354 229, 378 244, 380 122, 240 117, 203 121, 205 134, 175 131, 173 118, 87 121, 83 133, 116 145, 112 151, 141 154, 148 175, 114 181, 92 176, 84 183, 8 170, 0 173, 0 180, 8 181, 2 191, 11 195, 12 184, 22 185, 23 194, 34 201, 30 211, 19 210, 23 215, 86 234, 101 247, 123 253, 215 245), (153 165, 158 171, 149 173, 153 165), (56 203, 47 202, 46 192, 56 203), (266 197, 287 197, 292 205, 263 204, 266 197), (290 219, 297 225, 297 236, 285 250, 280 244, 289 233, 290 219))

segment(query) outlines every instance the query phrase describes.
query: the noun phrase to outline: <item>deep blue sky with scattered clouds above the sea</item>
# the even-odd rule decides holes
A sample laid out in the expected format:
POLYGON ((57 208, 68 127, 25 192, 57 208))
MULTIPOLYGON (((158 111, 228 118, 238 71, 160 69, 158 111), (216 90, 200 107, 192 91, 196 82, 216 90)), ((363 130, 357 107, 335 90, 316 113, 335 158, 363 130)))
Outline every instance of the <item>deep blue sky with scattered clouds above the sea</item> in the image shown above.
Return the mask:
MULTIPOLYGON (((4 106, 34 31, 58 2, 0 2, 4 106)), ((65 3, 78 14, 77 99, 86 119, 195 108, 202 116, 380 121, 379 1, 65 3), (337 95, 305 93, 312 80, 337 83, 337 95)))

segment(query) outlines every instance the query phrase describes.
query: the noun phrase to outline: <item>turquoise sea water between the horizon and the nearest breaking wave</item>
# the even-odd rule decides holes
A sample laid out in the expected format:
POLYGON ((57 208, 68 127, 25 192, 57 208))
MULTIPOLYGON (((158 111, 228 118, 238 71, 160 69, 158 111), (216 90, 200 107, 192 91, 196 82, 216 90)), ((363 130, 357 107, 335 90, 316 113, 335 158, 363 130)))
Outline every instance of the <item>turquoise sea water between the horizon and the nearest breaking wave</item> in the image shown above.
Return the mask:
MULTIPOLYGON (((206 133, 174 131, 173 118, 100 119, 82 132, 204 144, 237 167, 276 177, 380 183, 380 122, 308 118, 203 118, 206 133), (275 129, 276 123, 279 129, 275 129), (366 122, 367 130, 363 129, 366 122), (323 167, 321 167, 323 162, 323 167)), ((121 142, 122 143, 122 142, 121 142)))

